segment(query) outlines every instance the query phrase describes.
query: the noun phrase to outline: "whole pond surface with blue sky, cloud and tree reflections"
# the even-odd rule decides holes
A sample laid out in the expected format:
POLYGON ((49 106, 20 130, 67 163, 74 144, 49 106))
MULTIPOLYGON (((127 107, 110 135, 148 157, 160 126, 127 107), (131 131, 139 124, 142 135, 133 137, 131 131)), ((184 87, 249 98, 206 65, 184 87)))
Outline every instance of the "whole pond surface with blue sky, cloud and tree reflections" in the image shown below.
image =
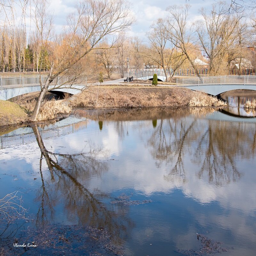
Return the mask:
POLYGON ((89 117, 1 136, 0 198, 19 191, 27 212, 0 253, 255 255, 255 118, 77 112, 89 117))

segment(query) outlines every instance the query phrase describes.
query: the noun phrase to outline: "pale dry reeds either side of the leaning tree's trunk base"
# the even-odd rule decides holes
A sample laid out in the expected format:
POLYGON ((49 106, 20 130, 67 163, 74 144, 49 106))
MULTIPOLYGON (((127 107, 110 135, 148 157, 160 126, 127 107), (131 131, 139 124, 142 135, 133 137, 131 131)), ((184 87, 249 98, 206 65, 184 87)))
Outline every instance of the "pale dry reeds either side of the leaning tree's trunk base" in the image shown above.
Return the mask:
MULTIPOLYGON (((26 101, 23 106, 30 111, 36 106, 36 100, 26 101)), ((72 107, 69 107, 67 103, 62 101, 56 101, 54 98, 49 101, 45 101, 43 106, 40 108, 39 114, 36 121, 51 120, 61 115, 68 115, 72 111, 72 107)))

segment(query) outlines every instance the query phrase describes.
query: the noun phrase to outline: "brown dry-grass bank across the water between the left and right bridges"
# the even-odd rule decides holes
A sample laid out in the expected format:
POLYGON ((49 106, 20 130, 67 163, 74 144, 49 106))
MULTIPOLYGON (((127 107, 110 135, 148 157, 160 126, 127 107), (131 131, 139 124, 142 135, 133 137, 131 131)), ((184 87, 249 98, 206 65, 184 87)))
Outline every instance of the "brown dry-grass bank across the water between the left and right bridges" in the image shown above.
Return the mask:
POLYGON ((91 86, 72 96, 69 105, 89 108, 219 107, 223 101, 179 87, 91 86))

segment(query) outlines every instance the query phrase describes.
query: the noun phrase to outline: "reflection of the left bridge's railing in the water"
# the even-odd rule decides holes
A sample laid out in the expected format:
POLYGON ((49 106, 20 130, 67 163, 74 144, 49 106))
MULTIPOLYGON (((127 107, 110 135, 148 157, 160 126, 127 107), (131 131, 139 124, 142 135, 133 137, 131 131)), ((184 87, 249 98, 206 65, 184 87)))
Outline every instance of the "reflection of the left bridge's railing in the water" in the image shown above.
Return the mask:
MULTIPOLYGON (((60 126, 52 129, 39 131, 43 140, 50 139, 54 137, 60 137, 67 135, 69 133, 76 132, 78 130, 86 128, 87 121, 81 121, 74 124, 68 124, 65 126, 60 126)), ((1 136, 0 137, 0 147, 8 148, 11 146, 24 145, 36 141, 36 135, 34 132, 17 134, 12 136, 1 136)))

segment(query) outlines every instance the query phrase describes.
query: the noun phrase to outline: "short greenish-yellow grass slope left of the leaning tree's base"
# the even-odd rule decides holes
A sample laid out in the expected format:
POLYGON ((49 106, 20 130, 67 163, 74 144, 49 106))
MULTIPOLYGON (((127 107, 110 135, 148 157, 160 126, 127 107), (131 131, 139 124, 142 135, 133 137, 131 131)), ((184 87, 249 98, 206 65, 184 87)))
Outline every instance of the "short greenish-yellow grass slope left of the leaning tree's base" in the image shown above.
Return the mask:
POLYGON ((0 124, 10 125, 28 121, 29 110, 20 105, 0 100, 0 124))

